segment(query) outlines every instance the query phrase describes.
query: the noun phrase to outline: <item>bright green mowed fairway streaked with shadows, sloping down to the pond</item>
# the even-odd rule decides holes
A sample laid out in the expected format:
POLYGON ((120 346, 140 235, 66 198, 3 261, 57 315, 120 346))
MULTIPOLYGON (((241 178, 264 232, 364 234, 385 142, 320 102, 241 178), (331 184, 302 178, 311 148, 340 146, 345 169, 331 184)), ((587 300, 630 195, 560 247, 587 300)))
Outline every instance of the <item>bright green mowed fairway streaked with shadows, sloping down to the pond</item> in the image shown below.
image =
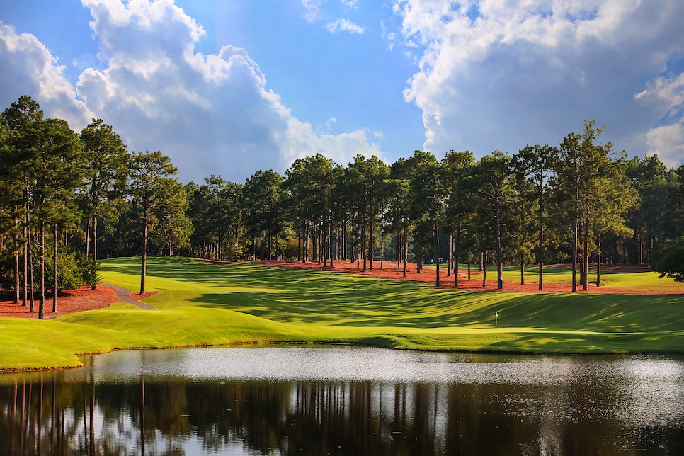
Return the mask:
MULTIPOLYGON (((147 273, 148 290, 159 294, 145 302, 159 309, 117 303, 52 320, 0 319, 0 370, 79 366, 79 353, 235 343, 684 352, 684 295, 462 292, 349 273, 169 257, 149 258, 147 273)), ((137 290, 139 258, 103 261, 101 274, 105 283, 137 290)))

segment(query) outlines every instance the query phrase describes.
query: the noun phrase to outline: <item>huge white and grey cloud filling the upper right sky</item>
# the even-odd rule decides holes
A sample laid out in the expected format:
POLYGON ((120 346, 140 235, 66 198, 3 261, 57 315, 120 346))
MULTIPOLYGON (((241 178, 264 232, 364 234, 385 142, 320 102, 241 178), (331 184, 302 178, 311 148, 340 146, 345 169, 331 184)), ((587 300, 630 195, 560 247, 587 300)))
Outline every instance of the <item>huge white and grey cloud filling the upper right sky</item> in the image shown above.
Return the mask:
POLYGON ((658 96, 634 97, 649 79, 646 90, 653 91, 668 64, 684 55, 678 0, 393 6, 418 66, 404 97, 423 110, 424 147, 433 152, 513 153, 528 143, 557 144, 584 119, 595 119, 607 125, 605 140, 617 149, 644 154, 646 142, 661 137, 651 128, 663 116, 682 125, 658 96))

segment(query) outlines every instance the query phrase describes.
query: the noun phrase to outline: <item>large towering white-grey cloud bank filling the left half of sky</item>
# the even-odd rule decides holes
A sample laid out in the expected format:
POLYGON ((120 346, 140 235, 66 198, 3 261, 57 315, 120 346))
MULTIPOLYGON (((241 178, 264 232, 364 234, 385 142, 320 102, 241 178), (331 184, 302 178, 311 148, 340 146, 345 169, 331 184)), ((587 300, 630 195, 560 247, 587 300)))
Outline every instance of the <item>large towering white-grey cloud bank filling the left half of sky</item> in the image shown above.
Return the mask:
MULTIPOLYGON (((305 1, 309 6, 314 1, 305 1)), ((244 181, 258 169, 283 172, 321 153, 341 163, 355 154, 383 156, 363 129, 317 135, 295 118, 246 50, 225 45, 196 52, 205 31, 173 0, 82 0, 98 40, 101 69, 81 72, 76 88, 33 35, 0 28, 0 93, 35 93, 49 115, 80 130, 92 117, 113 126, 130 150, 161 150, 181 180, 221 174, 244 181)))

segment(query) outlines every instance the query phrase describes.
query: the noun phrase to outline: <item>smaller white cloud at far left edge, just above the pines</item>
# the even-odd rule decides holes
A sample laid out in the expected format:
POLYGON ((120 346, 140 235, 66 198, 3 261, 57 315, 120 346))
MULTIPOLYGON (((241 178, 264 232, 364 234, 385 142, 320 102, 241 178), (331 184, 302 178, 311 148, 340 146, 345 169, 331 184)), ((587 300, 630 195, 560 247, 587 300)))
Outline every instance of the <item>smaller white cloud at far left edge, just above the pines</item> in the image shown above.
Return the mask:
POLYGON ((47 117, 62 118, 76 130, 92 117, 66 76, 38 38, 0 21, 0 106, 8 107, 20 96, 33 96, 47 117))

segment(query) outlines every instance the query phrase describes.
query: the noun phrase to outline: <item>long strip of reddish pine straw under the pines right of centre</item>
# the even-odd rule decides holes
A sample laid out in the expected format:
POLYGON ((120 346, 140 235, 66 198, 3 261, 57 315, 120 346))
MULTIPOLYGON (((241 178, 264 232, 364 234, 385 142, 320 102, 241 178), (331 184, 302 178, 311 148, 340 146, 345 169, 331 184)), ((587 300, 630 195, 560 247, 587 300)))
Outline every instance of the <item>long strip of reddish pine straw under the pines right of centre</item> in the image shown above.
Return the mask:
MULTIPOLYGON (((416 273, 416 264, 409 263, 406 268, 406 277, 403 277, 403 268, 397 268, 397 263, 385 261, 383 268, 380 269, 380 261, 373 262, 373 269, 370 269, 370 262, 366 263, 366 270, 363 271, 363 263, 357 267, 357 263, 350 263, 349 261, 334 261, 333 266, 324 268, 321 264, 316 262, 302 263, 300 261, 264 261, 268 266, 280 266, 283 268, 296 268, 307 270, 326 270, 339 273, 355 273, 360 275, 367 275, 369 277, 384 278, 384 279, 399 279, 412 280, 414 282, 435 283, 435 268, 423 268, 423 272, 416 273)), ((616 268, 606 268, 605 270, 613 270, 616 268)), ((625 270, 627 272, 627 270, 625 270)), ((496 288, 496 273, 488 271, 486 286, 482 287, 482 273, 476 270, 471 270, 471 280, 468 280, 467 270, 459 270, 458 274, 458 289, 464 291, 498 291, 498 292, 524 292, 524 293, 569 293, 572 291, 572 285, 569 283, 549 283, 544 284, 544 290, 539 290, 537 280, 528 281, 525 285, 511 282, 510 280, 503 280, 503 290, 496 288), (489 277, 493 280, 489 280, 489 277)), ((519 277, 519 276, 518 276, 519 277)), ((454 289, 454 276, 447 274, 446 265, 440 266, 440 288, 454 289)), ((593 283, 589 284, 588 290, 581 291, 578 287, 578 292, 581 293, 607 293, 612 295, 683 295, 684 285, 681 290, 620 290, 610 287, 597 287, 593 283)))

